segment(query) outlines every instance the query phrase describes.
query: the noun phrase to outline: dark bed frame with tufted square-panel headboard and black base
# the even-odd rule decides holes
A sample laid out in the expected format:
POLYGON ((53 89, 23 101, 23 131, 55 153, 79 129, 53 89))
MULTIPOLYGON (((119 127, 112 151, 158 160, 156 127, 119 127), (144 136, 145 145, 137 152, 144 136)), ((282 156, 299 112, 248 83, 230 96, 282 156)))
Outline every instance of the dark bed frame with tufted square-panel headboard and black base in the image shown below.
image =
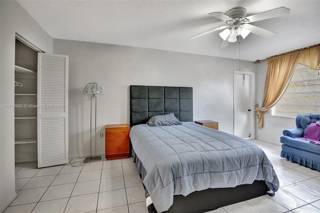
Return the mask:
MULTIPOLYGON (((173 112, 180 121, 193 121, 192 87, 130 85, 130 125, 146 123, 159 114, 173 112)), ((135 163, 141 163, 134 156, 135 163)), ((145 172, 140 174, 141 179, 145 172)), ((187 196, 174 195, 173 204, 166 213, 206 212, 221 206, 244 201, 266 194, 264 180, 234 188, 209 188, 187 196)))

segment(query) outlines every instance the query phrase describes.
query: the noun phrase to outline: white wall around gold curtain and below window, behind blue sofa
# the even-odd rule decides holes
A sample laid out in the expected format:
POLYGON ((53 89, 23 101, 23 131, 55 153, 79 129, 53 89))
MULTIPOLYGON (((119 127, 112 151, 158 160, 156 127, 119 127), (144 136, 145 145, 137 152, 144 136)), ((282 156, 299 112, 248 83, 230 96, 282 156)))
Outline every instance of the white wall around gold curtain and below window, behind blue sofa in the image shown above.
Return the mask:
MULTIPOLYGON (((267 62, 263 61, 257 65, 256 71, 256 100, 259 107, 262 104, 264 81, 267 62)), ((264 114, 264 126, 256 128, 256 138, 280 145, 280 136, 286 128, 295 128, 295 119, 287 117, 271 116, 271 111, 264 114)))

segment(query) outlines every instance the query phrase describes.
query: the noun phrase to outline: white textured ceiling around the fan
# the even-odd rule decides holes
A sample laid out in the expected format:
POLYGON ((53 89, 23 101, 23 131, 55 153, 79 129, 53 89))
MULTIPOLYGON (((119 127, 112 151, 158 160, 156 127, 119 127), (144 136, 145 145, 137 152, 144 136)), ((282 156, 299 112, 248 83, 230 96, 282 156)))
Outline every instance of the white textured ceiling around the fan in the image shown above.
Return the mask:
POLYGON ((254 61, 320 43, 319 0, 18 0, 53 38, 128 45, 254 61), (218 31, 189 37, 221 26, 209 16, 244 7, 247 16, 280 6, 290 14, 253 22, 278 35, 250 33, 220 48, 218 31), (239 47, 240 46, 240 47, 239 47), (240 51, 239 51, 240 48, 240 51))

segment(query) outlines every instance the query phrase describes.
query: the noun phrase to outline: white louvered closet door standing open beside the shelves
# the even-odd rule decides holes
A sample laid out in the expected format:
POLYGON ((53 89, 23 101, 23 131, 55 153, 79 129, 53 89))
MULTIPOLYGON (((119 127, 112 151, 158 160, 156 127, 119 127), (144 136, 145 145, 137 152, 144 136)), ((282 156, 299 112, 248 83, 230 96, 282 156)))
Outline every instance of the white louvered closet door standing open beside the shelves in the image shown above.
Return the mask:
POLYGON ((68 56, 38 53, 38 167, 68 162, 68 56))

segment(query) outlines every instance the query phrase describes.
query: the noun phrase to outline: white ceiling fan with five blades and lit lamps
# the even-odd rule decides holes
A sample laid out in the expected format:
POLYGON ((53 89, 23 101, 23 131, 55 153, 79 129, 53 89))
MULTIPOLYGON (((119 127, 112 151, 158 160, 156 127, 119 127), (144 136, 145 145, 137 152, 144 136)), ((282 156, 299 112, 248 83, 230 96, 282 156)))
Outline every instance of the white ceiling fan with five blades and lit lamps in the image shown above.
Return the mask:
POLYGON ((258 20, 264 20, 268 18, 287 15, 289 13, 290 9, 284 6, 260 12, 250 16, 246 16, 246 9, 243 7, 235 7, 227 10, 225 13, 211 12, 209 13, 209 15, 225 21, 226 25, 219 26, 217 28, 193 35, 189 39, 194 39, 202 35, 208 34, 210 32, 224 29, 219 33, 220 37, 223 39, 220 47, 223 48, 228 46, 229 42, 236 42, 236 36, 241 35, 241 37, 244 39, 250 32, 262 37, 272 37, 277 33, 251 25, 249 23, 258 20))

